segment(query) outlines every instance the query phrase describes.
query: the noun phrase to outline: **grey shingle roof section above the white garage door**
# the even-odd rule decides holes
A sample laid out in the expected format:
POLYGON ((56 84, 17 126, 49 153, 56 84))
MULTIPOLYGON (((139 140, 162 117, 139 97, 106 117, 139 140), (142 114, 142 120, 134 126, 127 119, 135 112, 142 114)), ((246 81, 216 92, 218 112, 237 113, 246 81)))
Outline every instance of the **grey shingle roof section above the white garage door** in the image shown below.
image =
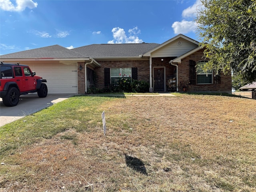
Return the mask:
POLYGON ((52 45, 37 49, 20 51, 1 55, 1 59, 31 59, 31 58, 84 58, 81 54, 60 45, 52 45))

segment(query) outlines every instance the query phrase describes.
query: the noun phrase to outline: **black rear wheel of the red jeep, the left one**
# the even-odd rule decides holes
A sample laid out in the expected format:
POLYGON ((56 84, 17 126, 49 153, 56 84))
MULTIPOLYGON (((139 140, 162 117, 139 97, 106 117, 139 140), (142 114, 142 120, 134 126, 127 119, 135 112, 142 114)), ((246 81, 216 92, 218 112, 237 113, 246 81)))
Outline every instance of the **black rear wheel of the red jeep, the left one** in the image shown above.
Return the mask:
POLYGON ((16 87, 11 87, 6 96, 3 97, 3 103, 5 106, 13 107, 16 106, 19 102, 20 93, 16 87))

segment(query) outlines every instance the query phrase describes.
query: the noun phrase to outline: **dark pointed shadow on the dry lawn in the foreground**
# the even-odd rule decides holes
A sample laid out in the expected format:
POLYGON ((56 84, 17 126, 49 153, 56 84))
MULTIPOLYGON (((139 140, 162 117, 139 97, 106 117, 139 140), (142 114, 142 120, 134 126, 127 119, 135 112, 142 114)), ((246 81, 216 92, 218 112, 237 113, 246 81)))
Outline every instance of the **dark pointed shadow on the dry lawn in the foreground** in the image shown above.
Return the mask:
POLYGON ((126 165, 128 167, 132 168, 133 170, 135 170, 137 172, 148 175, 147 171, 146 171, 146 168, 145 168, 145 165, 140 159, 138 159, 136 157, 128 156, 126 154, 124 154, 124 156, 125 156, 126 165))

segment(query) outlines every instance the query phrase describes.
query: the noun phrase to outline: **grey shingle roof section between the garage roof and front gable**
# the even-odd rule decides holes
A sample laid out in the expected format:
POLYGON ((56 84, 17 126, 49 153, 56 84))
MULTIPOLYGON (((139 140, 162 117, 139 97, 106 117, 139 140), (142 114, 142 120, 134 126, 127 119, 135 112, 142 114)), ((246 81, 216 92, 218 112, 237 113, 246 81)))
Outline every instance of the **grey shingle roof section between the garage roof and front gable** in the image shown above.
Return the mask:
POLYGON ((92 44, 74 48, 86 57, 97 58, 118 58, 118 57, 139 57, 148 50, 158 46, 157 43, 134 43, 134 44, 92 44))

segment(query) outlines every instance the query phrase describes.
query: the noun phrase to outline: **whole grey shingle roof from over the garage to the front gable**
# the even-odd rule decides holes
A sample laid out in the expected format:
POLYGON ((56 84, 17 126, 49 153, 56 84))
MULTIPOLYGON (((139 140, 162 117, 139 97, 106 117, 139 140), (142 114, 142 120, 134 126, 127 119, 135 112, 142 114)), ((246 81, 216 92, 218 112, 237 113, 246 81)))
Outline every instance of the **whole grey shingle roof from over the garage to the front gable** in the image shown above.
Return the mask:
POLYGON ((52 45, 32 50, 1 55, 2 59, 16 58, 115 58, 136 57, 158 46, 156 43, 140 44, 92 44, 74 49, 52 45))

